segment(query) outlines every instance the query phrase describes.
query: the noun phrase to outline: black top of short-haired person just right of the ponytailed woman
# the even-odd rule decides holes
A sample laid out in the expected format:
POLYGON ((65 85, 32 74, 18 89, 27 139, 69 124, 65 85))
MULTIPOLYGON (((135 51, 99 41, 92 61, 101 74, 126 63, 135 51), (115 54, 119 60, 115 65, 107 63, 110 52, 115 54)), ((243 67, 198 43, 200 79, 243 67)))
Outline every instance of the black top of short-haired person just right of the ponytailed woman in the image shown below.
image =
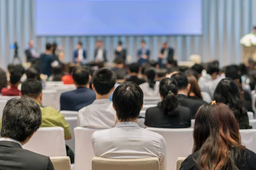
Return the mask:
POLYGON ((191 111, 191 119, 195 119, 195 113, 198 111, 198 108, 200 108, 201 105, 203 105, 204 100, 201 99, 189 99, 184 94, 178 94, 177 99, 180 102, 180 105, 189 108, 191 111))

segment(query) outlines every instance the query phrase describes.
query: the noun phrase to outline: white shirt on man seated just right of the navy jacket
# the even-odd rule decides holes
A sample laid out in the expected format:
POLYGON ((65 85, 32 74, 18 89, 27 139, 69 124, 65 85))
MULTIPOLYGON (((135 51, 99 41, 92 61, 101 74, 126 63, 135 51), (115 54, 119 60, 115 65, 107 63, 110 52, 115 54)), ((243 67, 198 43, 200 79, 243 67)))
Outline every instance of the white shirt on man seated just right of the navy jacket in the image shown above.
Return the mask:
POLYGON ((108 129, 115 126, 116 111, 110 99, 96 99, 78 112, 80 126, 108 129))

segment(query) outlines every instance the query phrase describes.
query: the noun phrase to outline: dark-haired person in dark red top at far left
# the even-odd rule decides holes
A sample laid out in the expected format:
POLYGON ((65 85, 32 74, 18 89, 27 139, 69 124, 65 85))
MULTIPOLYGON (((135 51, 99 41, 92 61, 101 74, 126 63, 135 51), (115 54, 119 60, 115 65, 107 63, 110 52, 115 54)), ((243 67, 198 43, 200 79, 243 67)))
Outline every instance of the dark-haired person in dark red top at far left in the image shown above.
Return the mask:
POLYGON ((10 83, 11 86, 9 88, 2 88, 1 94, 3 96, 19 96, 20 90, 17 88, 20 84, 20 78, 22 74, 18 70, 12 70, 10 72, 10 83))

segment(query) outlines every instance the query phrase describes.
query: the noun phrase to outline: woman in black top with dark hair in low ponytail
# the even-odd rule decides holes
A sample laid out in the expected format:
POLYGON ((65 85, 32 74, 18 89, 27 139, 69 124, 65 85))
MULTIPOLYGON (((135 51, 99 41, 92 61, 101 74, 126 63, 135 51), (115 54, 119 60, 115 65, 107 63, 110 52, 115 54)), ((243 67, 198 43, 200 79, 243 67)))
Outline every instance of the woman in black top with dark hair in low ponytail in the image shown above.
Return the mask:
POLYGON ((177 82, 171 78, 160 81, 159 93, 162 102, 156 107, 148 108, 145 113, 145 126, 158 128, 191 127, 191 112, 189 108, 180 106, 177 101, 177 82))

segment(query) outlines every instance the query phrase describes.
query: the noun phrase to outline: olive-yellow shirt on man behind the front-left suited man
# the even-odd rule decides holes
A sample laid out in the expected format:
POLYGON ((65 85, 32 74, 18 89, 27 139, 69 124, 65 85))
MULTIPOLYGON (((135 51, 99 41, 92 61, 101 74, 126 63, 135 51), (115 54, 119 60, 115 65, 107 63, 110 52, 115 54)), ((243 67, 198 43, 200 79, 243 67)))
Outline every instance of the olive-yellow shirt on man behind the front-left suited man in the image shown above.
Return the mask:
MULTIPOLYGON (((65 139, 71 136, 69 124, 65 117, 52 107, 41 108, 42 111, 42 124, 40 127, 62 127, 64 129, 65 139)), ((0 120, 0 129, 2 128, 2 118, 0 120)))

